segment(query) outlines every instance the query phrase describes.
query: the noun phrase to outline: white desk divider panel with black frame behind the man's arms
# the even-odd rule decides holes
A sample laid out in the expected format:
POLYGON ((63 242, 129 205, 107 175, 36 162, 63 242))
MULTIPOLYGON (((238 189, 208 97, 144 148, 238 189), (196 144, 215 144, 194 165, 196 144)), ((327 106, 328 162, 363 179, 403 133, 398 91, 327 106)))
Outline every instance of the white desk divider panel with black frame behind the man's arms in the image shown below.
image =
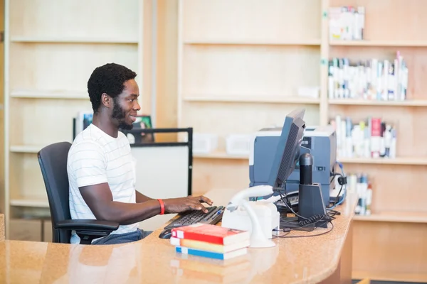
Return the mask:
MULTIPOLYGON (((186 142, 131 144, 135 158, 136 187, 143 195, 157 199, 191 195, 192 129, 134 129, 123 133, 187 132, 186 142)), ((154 135, 154 134, 153 134, 154 135)), ((176 214, 157 215, 139 222, 139 229, 154 231, 176 214)))

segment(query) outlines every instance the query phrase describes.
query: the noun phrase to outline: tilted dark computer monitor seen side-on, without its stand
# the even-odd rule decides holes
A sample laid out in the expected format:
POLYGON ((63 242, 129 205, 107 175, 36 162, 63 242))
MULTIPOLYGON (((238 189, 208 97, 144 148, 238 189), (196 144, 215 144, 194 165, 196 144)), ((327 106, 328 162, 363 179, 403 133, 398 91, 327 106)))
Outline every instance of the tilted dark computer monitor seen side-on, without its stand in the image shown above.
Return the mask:
POLYGON ((273 189, 284 189, 286 180, 300 158, 300 146, 305 131, 304 114, 305 109, 295 109, 285 117, 268 179, 268 185, 273 189))

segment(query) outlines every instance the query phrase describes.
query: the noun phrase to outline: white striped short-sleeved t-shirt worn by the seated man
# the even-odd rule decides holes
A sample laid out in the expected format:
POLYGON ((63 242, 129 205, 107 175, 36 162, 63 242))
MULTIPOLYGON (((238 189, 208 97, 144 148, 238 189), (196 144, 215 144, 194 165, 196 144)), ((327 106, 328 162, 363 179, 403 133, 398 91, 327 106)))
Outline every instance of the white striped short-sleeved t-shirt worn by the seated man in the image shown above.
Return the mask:
MULTIPOLYGON (((117 138, 90 124, 75 137, 68 153, 68 180, 70 184, 71 219, 96 219, 80 195, 79 187, 108 182, 112 200, 135 203, 135 159, 130 143, 122 132, 117 138)), ((120 225, 112 234, 135 231, 138 224, 120 225)), ((71 244, 80 238, 73 231, 71 244)))

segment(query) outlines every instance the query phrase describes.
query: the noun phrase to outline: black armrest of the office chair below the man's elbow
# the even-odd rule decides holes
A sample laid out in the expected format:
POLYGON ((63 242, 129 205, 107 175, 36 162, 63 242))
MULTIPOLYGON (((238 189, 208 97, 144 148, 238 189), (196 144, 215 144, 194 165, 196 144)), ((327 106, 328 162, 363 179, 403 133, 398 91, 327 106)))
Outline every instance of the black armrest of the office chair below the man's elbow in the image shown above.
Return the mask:
POLYGON ((56 229, 64 230, 84 230, 84 231, 107 231, 112 232, 119 229, 119 223, 110 221, 100 221, 95 219, 71 219, 63 220, 56 224, 56 229))

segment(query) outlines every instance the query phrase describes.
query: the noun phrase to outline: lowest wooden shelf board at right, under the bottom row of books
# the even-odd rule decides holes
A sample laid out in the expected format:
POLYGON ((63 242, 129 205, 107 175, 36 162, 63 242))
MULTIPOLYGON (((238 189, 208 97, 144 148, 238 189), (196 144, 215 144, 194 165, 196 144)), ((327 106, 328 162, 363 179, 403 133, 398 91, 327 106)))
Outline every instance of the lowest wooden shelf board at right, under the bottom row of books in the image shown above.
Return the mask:
POLYGON ((354 220, 366 222, 427 223, 427 212, 382 212, 368 216, 355 215, 354 220))

